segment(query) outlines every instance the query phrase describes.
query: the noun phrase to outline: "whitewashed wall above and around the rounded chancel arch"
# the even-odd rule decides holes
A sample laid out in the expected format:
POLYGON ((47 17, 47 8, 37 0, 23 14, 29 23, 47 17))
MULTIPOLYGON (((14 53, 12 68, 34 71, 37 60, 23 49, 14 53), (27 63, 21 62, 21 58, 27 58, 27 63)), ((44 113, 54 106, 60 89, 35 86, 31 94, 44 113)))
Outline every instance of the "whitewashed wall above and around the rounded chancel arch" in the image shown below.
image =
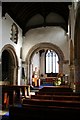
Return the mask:
MULTIPOLYGON (((69 60, 69 40, 65 31, 60 27, 41 27, 26 33, 23 40, 23 61, 25 61, 28 51, 34 45, 42 42, 57 45, 62 50, 65 60, 69 60)), ((68 72, 68 65, 64 65, 63 69, 64 73, 68 72)))

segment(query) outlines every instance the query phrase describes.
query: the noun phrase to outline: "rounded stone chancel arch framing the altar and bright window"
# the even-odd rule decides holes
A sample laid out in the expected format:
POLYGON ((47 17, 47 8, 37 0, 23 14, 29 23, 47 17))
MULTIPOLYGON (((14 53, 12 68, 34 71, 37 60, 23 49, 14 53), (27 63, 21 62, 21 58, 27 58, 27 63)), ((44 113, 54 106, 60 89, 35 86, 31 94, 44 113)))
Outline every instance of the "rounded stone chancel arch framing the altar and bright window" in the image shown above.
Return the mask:
POLYGON ((59 56, 59 65, 60 65, 60 72, 63 72, 63 64, 64 64, 64 55, 63 55, 63 52, 61 51, 61 49, 52 44, 52 43, 39 43, 39 44, 36 44, 34 45, 28 52, 28 55, 26 57, 26 60, 25 60, 25 64, 26 64, 26 76, 28 77, 28 83, 30 83, 30 66, 31 66, 31 59, 32 59, 32 56, 35 54, 35 52, 38 52, 40 50, 47 50, 47 49, 51 49, 51 50, 54 50, 57 55, 59 56))

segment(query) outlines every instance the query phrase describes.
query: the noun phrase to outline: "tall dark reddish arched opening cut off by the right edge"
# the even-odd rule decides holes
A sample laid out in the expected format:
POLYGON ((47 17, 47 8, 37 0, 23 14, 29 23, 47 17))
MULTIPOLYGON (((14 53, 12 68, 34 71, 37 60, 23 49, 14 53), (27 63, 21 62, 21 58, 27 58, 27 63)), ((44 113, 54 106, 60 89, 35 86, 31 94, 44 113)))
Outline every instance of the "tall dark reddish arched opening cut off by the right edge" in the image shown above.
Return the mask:
POLYGON ((74 66, 76 91, 80 92, 80 2, 77 5, 74 31, 74 66))

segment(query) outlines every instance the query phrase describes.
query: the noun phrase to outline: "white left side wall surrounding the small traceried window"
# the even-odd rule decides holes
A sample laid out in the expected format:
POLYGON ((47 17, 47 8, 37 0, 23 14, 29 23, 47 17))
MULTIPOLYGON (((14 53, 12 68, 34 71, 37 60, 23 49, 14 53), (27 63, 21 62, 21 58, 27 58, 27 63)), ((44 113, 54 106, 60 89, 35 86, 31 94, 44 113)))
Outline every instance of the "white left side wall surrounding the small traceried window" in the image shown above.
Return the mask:
POLYGON ((20 79, 21 79, 21 59, 20 59, 20 48, 22 47, 22 30, 18 26, 18 43, 15 44, 13 41, 10 40, 10 33, 11 33, 11 27, 12 24, 15 23, 15 21, 6 13, 5 16, 2 18, 2 48, 10 44, 14 47, 16 51, 16 55, 18 58, 18 65, 19 65, 19 70, 18 70, 18 84, 20 84, 20 79))

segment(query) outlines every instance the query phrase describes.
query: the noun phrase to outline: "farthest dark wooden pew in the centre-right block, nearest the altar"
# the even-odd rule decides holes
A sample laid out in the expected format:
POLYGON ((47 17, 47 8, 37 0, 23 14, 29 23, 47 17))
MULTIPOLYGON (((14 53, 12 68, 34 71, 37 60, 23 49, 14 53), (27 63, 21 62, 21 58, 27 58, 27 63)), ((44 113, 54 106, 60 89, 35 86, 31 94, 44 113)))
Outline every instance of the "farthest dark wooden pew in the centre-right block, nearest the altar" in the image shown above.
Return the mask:
POLYGON ((69 86, 45 86, 39 91, 35 92, 36 95, 79 95, 80 93, 75 93, 69 86))

